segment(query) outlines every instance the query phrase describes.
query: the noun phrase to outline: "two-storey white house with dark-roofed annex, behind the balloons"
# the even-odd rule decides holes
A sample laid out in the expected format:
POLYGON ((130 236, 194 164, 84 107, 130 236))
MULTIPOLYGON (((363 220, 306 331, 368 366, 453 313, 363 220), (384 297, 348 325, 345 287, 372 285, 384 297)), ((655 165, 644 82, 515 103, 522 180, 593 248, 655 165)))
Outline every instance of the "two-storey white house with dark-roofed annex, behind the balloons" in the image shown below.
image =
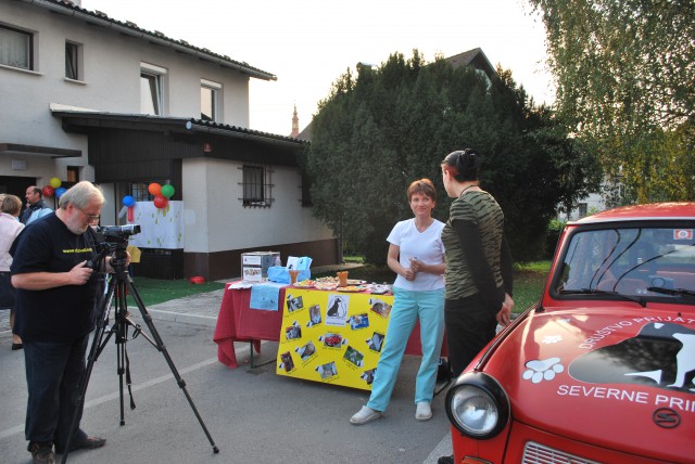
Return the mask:
POLYGON ((136 275, 239 276, 250 250, 334 263, 303 197, 307 142, 249 128, 252 78, 276 76, 79 1, 0 0, 0 192, 99 183, 102 224, 143 221, 136 275))

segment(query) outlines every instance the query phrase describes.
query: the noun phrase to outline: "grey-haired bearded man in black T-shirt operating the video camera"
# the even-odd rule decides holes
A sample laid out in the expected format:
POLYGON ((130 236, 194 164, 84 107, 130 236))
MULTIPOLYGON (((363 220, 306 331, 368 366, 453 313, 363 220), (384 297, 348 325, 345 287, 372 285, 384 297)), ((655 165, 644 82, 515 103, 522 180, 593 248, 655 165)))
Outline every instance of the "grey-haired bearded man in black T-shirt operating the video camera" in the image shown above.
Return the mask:
POLYGON ((71 452, 106 442, 79 428, 78 398, 99 288, 98 272, 88 262, 100 271, 113 271, 111 257, 97 261, 90 228, 103 203, 100 188, 77 183, 61 196, 54 214, 24 229, 11 250, 15 330, 24 343, 29 394, 25 436, 35 463, 53 463, 53 444, 55 453, 64 452, 74 417, 71 452))

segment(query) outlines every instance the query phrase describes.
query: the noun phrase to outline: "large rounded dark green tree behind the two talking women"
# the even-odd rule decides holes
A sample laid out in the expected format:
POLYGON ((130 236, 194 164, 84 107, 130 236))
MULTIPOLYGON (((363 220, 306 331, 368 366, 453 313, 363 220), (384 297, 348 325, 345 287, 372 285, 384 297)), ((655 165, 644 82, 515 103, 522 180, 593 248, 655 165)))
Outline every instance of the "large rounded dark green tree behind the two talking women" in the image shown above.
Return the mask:
POLYGON ((348 69, 319 103, 305 168, 315 215, 369 262, 386 261, 388 233, 412 217, 405 191, 413 180, 432 179, 434 216, 446 220, 440 163, 454 150, 483 155, 482 186, 505 211, 516 259, 538 257, 556 205, 586 193, 591 156, 547 108, 529 104, 509 72, 497 69, 490 82, 441 57, 427 64, 417 51, 356 72, 348 69))

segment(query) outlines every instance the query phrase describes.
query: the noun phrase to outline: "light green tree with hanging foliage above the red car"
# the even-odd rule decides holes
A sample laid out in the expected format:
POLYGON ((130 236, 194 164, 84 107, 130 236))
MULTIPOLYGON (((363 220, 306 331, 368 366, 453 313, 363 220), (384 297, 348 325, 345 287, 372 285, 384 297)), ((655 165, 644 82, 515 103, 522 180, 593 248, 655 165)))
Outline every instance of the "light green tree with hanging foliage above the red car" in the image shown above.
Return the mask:
POLYGON ((609 204, 695 199, 695 2, 529 0, 557 109, 608 179, 609 204))

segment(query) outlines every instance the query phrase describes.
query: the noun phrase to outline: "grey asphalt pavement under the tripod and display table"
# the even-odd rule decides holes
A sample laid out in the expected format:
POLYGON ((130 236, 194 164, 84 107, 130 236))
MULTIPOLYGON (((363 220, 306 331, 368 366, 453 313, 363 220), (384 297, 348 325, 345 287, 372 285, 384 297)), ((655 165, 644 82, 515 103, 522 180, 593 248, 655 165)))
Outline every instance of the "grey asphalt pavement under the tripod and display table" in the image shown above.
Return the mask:
MULTIPOLYGON (((255 356, 254 362, 265 365, 250 366, 248 344, 236 345, 239 368, 217 361, 212 339, 224 292, 148 307, 156 335, 134 308, 132 319, 143 332, 125 348, 136 409, 130 409, 128 388, 119 385, 119 346, 109 340, 93 363, 83 416, 84 428, 108 443, 71 453, 68 462, 419 464, 451 454, 444 392, 432 402, 432 420, 414 417, 419 357, 404 358, 384 416, 353 426, 349 418, 366 403, 368 391, 276 375, 277 343, 264 341, 255 356), (163 350, 148 337, 160 338, 163 350)), ((10 346, 9 311, 0 311, 0 461, 28 463, 24 356, 10 346)))

